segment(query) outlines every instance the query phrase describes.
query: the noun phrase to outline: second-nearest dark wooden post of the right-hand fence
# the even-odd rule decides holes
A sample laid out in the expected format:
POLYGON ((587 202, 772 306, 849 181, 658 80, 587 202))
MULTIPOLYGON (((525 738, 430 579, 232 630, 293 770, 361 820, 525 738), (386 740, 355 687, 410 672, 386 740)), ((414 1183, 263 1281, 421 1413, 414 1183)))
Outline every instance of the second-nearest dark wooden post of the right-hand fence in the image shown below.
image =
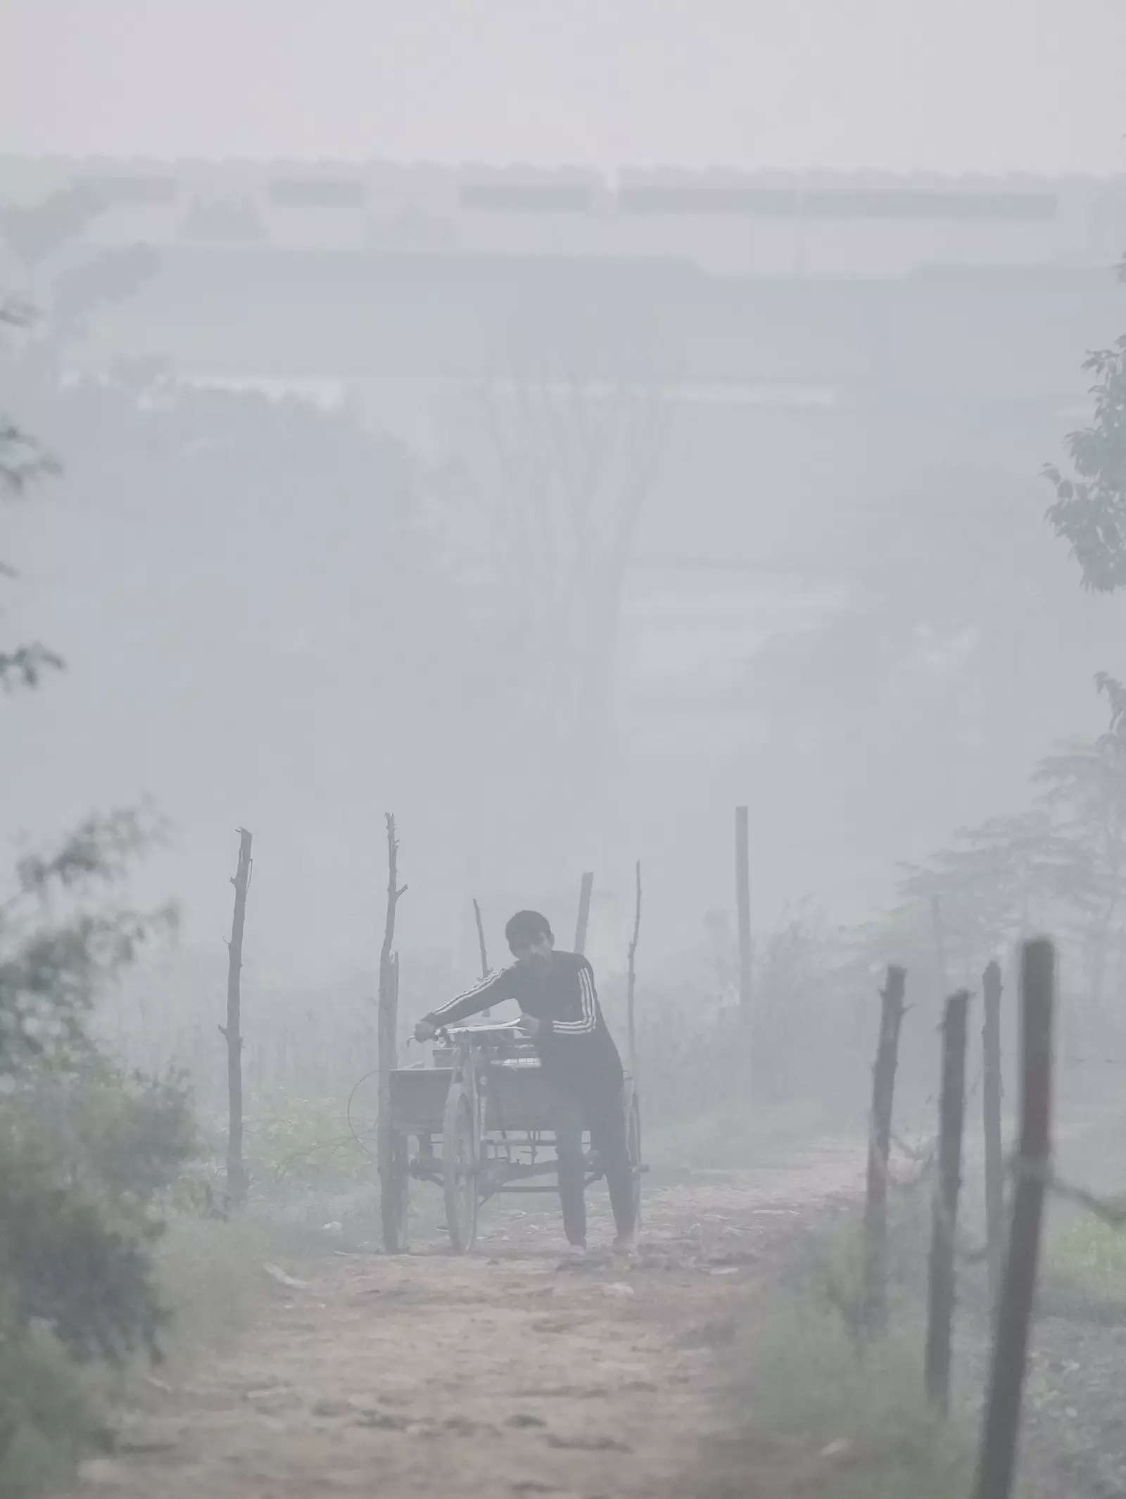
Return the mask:
POLYGON ((961 1136, 966 1112, 967 989, 946 1001, 942 1022, 942 1096, 939 1099, 939 1180, 931 1219, 927 1297, 927 1399, 943 1415, 951 1408, 951 1324, 954 1321, 954 1246, 961 1186, 961 1136))

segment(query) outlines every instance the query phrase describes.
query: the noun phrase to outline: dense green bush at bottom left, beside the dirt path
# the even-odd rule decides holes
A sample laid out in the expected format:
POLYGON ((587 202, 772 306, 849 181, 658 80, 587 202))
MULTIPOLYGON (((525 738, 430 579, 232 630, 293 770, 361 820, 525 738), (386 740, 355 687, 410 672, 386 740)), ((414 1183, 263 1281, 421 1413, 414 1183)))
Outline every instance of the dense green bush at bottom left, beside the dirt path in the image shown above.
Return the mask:
POLYGON ((97 1445, 91 1361, 159 1357, 162 1202, 195 1151, 175 1076, 27 1064, 0 1100, 0 1493, 97 1445))

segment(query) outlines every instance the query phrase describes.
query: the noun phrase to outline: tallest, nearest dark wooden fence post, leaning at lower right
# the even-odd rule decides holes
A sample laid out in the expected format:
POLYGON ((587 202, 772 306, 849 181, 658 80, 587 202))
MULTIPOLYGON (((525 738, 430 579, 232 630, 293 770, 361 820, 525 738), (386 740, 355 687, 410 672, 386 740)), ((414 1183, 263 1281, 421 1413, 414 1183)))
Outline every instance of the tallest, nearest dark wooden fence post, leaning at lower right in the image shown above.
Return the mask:
POLYGON ((1044 937, 1021 949, 1021 1139, 1005 1279, 975 1499, 1009 1499, 1017 1466, 1029 1322, 1036 1294, 1044 1192, 1051 1169, 1051 1030, 1056 952, 1044 937))

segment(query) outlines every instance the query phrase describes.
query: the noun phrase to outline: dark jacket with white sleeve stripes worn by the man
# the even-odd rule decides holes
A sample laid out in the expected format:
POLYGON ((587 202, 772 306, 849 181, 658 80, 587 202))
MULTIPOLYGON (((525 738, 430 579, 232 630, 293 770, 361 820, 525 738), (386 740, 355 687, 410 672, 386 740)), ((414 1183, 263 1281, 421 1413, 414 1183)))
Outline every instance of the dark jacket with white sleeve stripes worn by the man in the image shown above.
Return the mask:
POLYGON ((618 1085, 622 1063, 606 1028, 594 968, 577 952, 553 952, 543 964, 514 962, 490 973, 426 1019, 453 1025, 502 1000, 516 1000, 525 1015, 543 1022, 535 1045, 544 1072, 577 1085, 618 1085))

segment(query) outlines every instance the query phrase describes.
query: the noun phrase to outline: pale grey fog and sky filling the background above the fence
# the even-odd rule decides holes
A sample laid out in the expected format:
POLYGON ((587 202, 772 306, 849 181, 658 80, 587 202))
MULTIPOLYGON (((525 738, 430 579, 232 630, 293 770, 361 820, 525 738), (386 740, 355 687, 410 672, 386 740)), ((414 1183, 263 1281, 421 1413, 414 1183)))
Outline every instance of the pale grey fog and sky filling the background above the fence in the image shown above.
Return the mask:
POLYGON ((4 24, 4 399, 63 468, 4 624, 67 663, 6 838, 150 796, 222 959, 250 827, 261 982, 370 968, 384 811, 451 970, 583 868, 619 965, 640 859, 660 968, 736 803, 756 928, 852 923, 1104 726, 1039 469, 1120 327, 1117 7, 4 24))

